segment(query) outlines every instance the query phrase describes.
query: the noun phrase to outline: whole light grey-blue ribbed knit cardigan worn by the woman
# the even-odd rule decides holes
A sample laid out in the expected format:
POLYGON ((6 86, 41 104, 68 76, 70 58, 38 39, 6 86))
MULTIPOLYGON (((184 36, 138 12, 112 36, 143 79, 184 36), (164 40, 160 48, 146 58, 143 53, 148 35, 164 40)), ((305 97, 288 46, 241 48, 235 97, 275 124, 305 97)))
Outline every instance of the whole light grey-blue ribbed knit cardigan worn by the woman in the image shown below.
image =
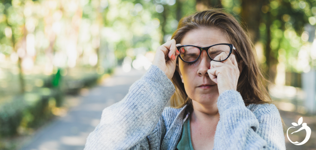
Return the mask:
MULTIPOLYGON (((123 100, 103 110, 100 124, 88 136, 84 150, 174 150, 187 107, 165 107, 174 92, 167 75, 151 65, 123 100)), ((285 149, 275 105, 246 107, 239 92, 226 90, 218 97, 217 108, 220 120, 213 149, 285 149)))

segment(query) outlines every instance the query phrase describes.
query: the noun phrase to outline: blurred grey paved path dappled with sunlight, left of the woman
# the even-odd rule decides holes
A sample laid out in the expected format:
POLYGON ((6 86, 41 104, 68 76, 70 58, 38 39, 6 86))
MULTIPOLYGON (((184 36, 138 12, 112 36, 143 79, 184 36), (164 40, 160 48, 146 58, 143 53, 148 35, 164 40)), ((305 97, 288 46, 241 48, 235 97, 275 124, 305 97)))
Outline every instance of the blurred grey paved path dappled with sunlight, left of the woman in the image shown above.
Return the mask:
POLYGON ((76 106, 41 129, 21 150, 82 150, 87 136, 99 124, 102 110, 122 100, 144 73, 133 69, 125 73, 117 68, 114 76, 101 85, 68 100, 76 106))

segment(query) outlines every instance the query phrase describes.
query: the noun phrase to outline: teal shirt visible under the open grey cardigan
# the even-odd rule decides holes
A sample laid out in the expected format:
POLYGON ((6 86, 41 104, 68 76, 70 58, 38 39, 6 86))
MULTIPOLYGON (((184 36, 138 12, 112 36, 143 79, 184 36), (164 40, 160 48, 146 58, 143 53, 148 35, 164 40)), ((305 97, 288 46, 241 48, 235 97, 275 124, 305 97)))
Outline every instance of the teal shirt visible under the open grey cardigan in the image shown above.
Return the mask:
POLYGON ((190 117, 188 117, 183 123, 181 139, 177 145, 179 150, 193 150, 190 134, 190 117))

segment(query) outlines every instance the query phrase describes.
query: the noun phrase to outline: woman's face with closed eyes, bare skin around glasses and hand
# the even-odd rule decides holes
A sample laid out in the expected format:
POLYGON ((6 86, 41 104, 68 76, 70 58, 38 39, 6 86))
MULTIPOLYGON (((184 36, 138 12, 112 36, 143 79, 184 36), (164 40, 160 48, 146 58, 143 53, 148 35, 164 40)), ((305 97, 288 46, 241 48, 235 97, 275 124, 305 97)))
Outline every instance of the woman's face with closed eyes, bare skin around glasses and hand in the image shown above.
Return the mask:
MULTIPOLYGON (((199 47, 209 47, 220 43, 230 42, 222 31, 215 28, 189 31, 181 41, 181 45, 199 47)), ((229 53, 229 50, 225 53, 229 53)), ((219 96, 217 84, 211 81, 207 73, 207 70, 210 69, 210 61, 211 59, 204 50, 200 58, 193 64, 188 64, 179 59, 179 74, 184 83, 185 92, 193 101, 200 104, 215 103, 219 96)))

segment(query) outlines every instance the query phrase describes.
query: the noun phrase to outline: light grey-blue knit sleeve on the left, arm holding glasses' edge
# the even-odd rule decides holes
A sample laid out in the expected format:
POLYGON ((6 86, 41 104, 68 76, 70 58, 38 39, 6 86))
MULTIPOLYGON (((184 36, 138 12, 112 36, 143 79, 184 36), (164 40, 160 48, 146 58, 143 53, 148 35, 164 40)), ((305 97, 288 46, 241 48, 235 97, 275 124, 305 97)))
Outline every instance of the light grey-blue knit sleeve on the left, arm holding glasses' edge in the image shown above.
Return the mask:
POLYGON ((84 150, 138 149, 155 131, 174 92, 167 75, 151 65, 123 100, 103 110, 100 124, 89 134, 84 150))

